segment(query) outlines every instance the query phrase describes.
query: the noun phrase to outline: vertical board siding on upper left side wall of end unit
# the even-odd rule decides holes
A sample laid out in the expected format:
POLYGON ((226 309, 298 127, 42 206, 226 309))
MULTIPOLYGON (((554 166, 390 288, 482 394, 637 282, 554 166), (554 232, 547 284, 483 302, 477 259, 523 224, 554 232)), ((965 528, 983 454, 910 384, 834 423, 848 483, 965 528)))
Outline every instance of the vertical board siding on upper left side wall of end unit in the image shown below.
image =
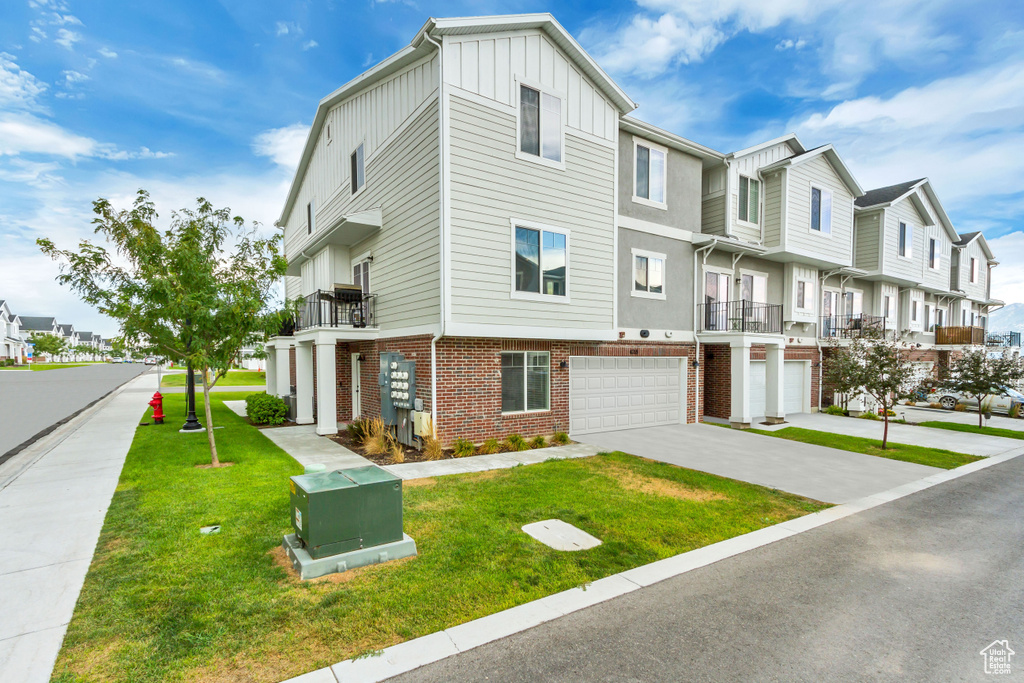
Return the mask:
MULTIPOLYGON (((420 114, 428 100, 436 102, 437 54, 425 57, 366 90, 333 106, 327 114, 316 144, 309 158, 295 204, 285 216, 285 254, 298 254, 310 241, 306 234, 306 205, 316 208, 316 225, 322 226, 321 207, 344 201, 351 194, 351 154, 362 143, 366 166, 384 146, 392 143, 398 130, 420 114), (331 138, 328 138, 328 127, 331 138)), ((436 103, 432 108, 437 115, 436 103)))

